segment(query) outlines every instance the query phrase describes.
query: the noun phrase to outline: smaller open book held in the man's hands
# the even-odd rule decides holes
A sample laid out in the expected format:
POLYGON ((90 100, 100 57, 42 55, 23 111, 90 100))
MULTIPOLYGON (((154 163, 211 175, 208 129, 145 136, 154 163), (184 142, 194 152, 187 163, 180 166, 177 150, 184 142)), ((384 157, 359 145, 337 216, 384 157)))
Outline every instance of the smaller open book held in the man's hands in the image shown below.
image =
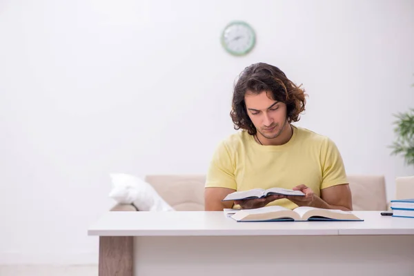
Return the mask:
POLYGON ((221 201, 228 200, 239 200, 239 199, 257 199, 262 197, 268 197, 269 195, 299 195, 304 196, 300 190, 289 190, 284 188, 270 188, 264 189, 253 189, 253 190, 242 190, 228 194, 221 201))

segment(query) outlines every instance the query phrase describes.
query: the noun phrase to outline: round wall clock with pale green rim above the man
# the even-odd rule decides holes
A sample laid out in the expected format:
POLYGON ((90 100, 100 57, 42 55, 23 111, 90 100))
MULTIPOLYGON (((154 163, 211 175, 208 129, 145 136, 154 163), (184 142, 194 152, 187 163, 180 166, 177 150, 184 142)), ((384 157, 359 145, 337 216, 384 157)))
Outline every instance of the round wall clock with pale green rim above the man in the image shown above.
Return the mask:
POLYGON ((244 21, 229 23, 221 34, 221 45, 231 55, 246 55, 255 47, 255 43, 255 30, 244 21))

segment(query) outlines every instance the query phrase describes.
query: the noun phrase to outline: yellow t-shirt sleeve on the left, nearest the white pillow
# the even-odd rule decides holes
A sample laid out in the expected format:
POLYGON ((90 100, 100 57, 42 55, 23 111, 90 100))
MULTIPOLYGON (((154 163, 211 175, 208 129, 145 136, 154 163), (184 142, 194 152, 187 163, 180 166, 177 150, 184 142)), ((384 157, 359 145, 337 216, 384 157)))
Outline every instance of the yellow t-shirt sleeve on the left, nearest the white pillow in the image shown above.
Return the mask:
POLYGON ((213 153, 205 186, 237 189, 234 162, 224 141, 221 141, 213 153))

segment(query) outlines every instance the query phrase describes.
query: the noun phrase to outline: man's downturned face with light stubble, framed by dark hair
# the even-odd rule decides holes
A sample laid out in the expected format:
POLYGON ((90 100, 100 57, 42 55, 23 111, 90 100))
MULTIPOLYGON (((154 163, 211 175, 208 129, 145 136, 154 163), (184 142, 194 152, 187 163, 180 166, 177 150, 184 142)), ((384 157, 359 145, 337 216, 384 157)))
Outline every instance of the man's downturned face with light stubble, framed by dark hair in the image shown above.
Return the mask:
POLYGON ((267 139, 274 139, 286 126, 286 104, 271 98, 270 92, 258 95, 246 93, 244 97, 247 114, 257 132, 267 139))

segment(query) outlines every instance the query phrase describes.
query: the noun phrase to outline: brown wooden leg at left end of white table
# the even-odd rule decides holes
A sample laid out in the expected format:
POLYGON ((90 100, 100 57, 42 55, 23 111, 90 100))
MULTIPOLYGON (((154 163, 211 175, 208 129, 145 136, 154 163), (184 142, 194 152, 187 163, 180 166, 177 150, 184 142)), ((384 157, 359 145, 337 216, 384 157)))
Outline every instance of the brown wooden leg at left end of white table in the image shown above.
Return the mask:
POLYGON ((133 237, 99 237, 99 276, 132 276, 133 237))

